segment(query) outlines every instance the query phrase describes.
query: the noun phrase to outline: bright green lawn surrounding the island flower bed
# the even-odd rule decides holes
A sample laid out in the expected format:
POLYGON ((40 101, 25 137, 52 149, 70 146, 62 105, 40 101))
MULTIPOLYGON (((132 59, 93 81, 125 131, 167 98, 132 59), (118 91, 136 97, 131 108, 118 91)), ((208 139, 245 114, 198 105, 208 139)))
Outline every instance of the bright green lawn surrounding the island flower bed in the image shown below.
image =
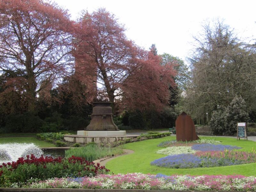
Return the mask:
MULTIPOLYGON (((234 145, 242 147, 242 151, 250 151, 256 149, 256 142, 246 141, 246 140, 236 140, 233 138, 223 138, 223 137, 200 137, 201 139, 215 139, 221 141, 222 145, 234 145)), ((144 140, 134 143, 127 143, 124 148, 131 149, 134 151, 133 154, 119 156, 106 164, 106 167, 110 169, 113 173, 131 173, 131 172, 141 172, 157 174, 162 173, 165 175, 172 174, 190 174, 190 175, 230 175, 230 174, 240 174, 244 176, 256 176, 256 163, 251 164, 241 164, 223 167, 211 167, 211 168, 193 168, 193 169, 170 169, 161 168, 157 166, 150 165, 155 159, 164 157, 165 155, 156 154, 155 152, 161 148, 157 145, 164 141, 176 139, 175 136, 169 136, 160 139, 144 140)))

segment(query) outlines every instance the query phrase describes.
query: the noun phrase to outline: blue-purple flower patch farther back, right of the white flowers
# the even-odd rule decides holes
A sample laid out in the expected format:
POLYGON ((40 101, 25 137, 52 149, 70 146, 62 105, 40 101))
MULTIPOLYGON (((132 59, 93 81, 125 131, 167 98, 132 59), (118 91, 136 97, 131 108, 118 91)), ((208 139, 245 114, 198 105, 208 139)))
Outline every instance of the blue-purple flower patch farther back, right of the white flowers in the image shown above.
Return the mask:
POLYGON ((197 151, 224 151, 225 149, 241 149, 241 147, 231 146, 231 145, 213 145, 210 143, 196 144, 192 146, 193 150, 197 151))

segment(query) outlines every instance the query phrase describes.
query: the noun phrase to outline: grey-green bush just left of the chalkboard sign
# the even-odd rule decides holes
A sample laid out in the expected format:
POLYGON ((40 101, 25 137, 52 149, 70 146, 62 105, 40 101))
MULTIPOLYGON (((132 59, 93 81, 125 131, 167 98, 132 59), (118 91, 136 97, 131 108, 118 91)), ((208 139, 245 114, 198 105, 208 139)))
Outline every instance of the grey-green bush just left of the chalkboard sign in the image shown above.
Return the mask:
POLYGON ((228 133, 236 132, 238 122, 248 122, 249 115, 246 112, 245 101, 242 97, 235 97, 230 104, 218 111, 214 111, 210 121, 211 128, 214 133, 228 133))

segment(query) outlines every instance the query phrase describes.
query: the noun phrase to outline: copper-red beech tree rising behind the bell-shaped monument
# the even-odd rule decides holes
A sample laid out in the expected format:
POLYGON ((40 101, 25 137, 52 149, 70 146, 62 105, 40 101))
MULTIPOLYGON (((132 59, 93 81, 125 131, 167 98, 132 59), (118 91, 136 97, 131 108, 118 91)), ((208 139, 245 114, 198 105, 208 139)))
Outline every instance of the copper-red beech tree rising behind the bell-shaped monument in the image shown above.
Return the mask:
POLYGON ((174 85, 172 64, 128 40, 115 15, 105 9, 85 12, 76 28, 76 73, 84 82, 98 86, 101 100, 119 108, 161 109, 168 103, 169 85, 174 85))

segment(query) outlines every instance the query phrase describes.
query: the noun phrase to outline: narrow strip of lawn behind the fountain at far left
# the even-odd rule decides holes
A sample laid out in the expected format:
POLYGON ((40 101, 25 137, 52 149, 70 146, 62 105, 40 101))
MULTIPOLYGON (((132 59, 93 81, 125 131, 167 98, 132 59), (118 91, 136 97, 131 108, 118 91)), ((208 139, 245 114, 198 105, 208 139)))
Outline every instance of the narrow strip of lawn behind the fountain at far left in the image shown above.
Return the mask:
POLYGON ((0 144, 3 143, 34 143, 40 148, 55 147, 54 144, 38 140, 35 137, 1 137, 0 144))

